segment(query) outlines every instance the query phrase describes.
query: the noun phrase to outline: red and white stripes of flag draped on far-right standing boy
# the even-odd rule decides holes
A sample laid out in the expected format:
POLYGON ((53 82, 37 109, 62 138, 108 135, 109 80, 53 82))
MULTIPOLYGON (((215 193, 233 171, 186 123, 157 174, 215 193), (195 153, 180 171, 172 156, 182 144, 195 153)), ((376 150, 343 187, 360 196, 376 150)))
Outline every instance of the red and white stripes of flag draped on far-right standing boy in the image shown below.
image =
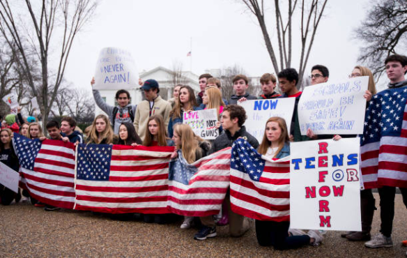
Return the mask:
POLYGON ((360 147, 364 188, 382 185, 407 188, 407 105, 400 137, 381 137, 360 147))

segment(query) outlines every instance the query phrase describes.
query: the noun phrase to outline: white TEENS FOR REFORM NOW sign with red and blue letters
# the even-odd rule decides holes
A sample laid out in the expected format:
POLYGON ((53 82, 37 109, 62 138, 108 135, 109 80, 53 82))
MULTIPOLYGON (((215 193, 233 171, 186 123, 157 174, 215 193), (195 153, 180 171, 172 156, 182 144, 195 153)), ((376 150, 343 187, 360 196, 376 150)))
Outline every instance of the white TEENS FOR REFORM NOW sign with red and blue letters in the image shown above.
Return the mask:
POLYGON ((359 142, 291 142, 291 228, 362 230, 359 142))

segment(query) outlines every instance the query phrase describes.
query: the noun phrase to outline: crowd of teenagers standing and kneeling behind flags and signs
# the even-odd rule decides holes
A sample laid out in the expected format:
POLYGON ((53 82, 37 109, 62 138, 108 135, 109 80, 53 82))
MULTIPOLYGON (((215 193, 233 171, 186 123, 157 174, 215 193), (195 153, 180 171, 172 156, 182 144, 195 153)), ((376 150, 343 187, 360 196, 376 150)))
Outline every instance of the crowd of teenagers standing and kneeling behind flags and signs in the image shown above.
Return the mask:
MULTIPOLYGON (((407 72, 407 57, 394 54, 385 59, 385 70, 390 83, 389 88, 407 87, 405 74, 407 72)), ((369 86, 364 93, 367 101, 376 94, 374 77, 369 68, 355 66, 349 77, 368 76, 369 86)), ((62 140, 64 142, 89 143, 89 144, 123 144, 143 146, 175 146, 171 155, 172 159, 183 155, 187 162, 192 163, 210 153, 220 151, 233 144, 236 139, 242 137, 249 142, 259 153, 270 158, 284 158, 290 155, 290 142, 301 142, 312 139, 334 139, 341 137, 356 137, 356 135, 317 135, 311 129, 307 135, 301 135, 298 121, 297 106, 302 92, 298 90, 298 73, 294 68, 286 68, 277 74, 270 73, 261 76, 261 95, 252 96, 247 93, 249 81, 245 75, 236 75, 233 78, 234 94, 229 100, 222 97, 220 80, 206 73, 199 77, 200 92, 195 95, 194 90, 183 84, 174 86, 174 97, 164 100, 160 97, 160 86, 155 79, 147 79, 140 82, 141 89, 146 97, 140 103, 131 104, 130 93, 125 90, 116 92, 116 107, 108 105, 102 100, 98 90, 93 89, 95 103, 106 114, 99 114, 91 126, 84 133, 77 128, 76 121, 69 116, 62 119, 61 123, 49 121, 46 132, 49 139, 62 140), (279 85, 281 92, 277 93, 275 88, 279 85), (247 119, 245 109, 237 105, 243 101, 273 98, 295 98, 295 108, 292 121, 285 121, 279 117, 271 117, 264 123, 265 132, 262 142, 245 129, 244 123, 247 119), (217 128, 220 135, 214 140, 204 140, 195 135, 190 126, 183 124, 183 114, 192 110, 216 109, 220 122, 217 128), (291 131, 287 131, 287 124, 291 123, 291 131)), ((325 66, 316 65, 311 69, 311 84, 328 82, 329 70, 325 66)), ((94 79, 91 85, 95 83, 94 79)), ((311 85, 311 86, 312 86, 311 85)), ((33 116, 23 119, 19 108, 18 114, 5 116, 0 131, 0 161, 8 167, 19 170, 19 160, 13 151, 13 133, 20 133, 29 139, 44 140, 44 131, 40 123, 33 116)), ((404 160, 405 163, 406 160, 404 160)), ((406 168, 407 170, 407 168, 406 168)), ((406 173, 407 174, 407 173, 406 173)), ((1 204, 8 205, 15 200, 29 197, 25 190, 22 194, 15 194, 1 185, 1 204)), ((407 189, 400 188, 403 202, 407 207, 407 189)), ((368 248, 391 247, 392 246, 392 220, 394 217, 394 194, 388 197, 389 192, 395 188, 383 186, 379 189, 379 196, 387 202, 380 202, 381 206, 381 231, 371 236, 371 223, 376 200, 371 189, 361 190, 361 214, 362 231, 346 232, 342 237, 350 241, 367 241, 368 248), (383 196, 382 196, 383 195, 383 196)), ((45 206, 46 211, 54 211, 58 207, 41 204, 32 197, 31 203, 35 206, 45 206)), ((142 215, 146 222, 165 222, 167 215, 142 215)), ((185 217, 181 229, 199 225, 199 232, 194 239, 204 240, 217 235, 216 227, 229 224, 231 236, 238 237, 245 234, 250 227, 250 220, 243 215, 231 210, 230 193, 226 193, 224 204, 220 215, 211 215, 201 218, 185 217)), ((405 226, 404 226, 405 227, 405 226)), ((319 245, 323 241, 324 232, 318 230, 302 231, 291 229, 289 222, 255 221, 256 237, 259 245, 273 245, 277 249, 296 248, 301 245, 319 245)))

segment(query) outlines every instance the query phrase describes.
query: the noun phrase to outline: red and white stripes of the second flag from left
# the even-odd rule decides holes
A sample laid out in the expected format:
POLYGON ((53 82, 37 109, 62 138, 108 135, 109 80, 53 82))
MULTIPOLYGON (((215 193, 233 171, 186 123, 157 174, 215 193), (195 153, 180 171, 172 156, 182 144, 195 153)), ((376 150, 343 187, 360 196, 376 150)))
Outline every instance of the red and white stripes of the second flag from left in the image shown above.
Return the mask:
POLYGON ((173 151, 174 147, 168 146, 114 145, 109 181, 75 180, 75 209, 168 213, 168 168, 173 151))

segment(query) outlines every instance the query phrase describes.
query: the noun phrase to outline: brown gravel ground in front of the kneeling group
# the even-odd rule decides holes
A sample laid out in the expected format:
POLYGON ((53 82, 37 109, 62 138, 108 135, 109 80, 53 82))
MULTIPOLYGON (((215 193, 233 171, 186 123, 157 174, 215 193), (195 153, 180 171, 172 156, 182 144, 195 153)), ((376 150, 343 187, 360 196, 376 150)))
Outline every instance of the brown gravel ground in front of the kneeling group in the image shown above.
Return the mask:
MULTIPOLYGON (((378 199, 378 195, 374 194, 378 199)), ((80 211, 46 212, 26 202, 0 205, 0 257, 405 257, 407 210, 396 196, 393 248, 364 248, 341 232, 328 232, 318 247, 278 251, 256 242, 254 225, 244 236, 231 238, 229 227, 217 227, 218 236, 194 241, 197 229, 181 230, 181 220, 169 225, 139 220, 112 220, 80 211)), ((379 213, 372 233, 378 232, 379 213)))

